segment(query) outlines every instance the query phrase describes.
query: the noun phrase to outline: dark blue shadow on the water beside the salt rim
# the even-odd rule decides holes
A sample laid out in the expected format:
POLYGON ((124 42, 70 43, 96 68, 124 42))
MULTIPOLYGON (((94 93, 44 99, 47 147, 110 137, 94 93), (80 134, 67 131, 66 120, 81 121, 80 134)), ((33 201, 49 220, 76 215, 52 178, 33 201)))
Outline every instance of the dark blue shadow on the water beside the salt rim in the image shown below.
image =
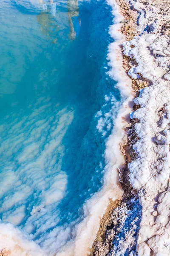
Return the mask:
MULTIPOLYGON (((76 109, 74 120, 62 141, 66 148, 62 159, 62 170, 68 174, 68 186, 67 194, 58 206, 61 225, 77 219, 80 213, 82 214, 81 207, 85 200, 102 186, 105 140, 113 128, 113 123, 107 134, 101 136, 96 128, 98 118, 94 115, 106 103, 105 95, 111 93, 116 101, 120 101, 119 91, 114 87, 114 81, 106 74, 107 63, 104 63, 106 49, 111 43, 108 35, 108 27, 112 24, 111 8, 103 1, 94 3, 93 8, 95 11, 93 10, 94 13, 90 20, 91 26, 88 31, 90 44, 87 49, 88 56, 93 56, 93 63, 91 63, 91 57, 87 61, 91 63, 91 67, 95 66, 91 92, 96 99, 91 102, 90 109, 87 110, 91 112, 90 115, 83 113, 88 108, 88 104, 76 109)), ((108 104, 105 111, 109 112, 110 109, 111 105, 108 104)))

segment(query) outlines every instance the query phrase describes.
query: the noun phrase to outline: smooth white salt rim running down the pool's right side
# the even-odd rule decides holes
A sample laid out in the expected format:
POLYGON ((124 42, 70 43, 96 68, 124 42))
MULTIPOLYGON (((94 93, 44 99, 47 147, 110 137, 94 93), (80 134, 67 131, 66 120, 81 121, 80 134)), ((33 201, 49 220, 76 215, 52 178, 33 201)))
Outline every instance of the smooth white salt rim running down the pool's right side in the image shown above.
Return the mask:
POLYGON ((120 150, 120 144, 125 136, 125 126, 129 122, 126 117, 132 111, 134 96, 131 79, 122 67, 123 55, 120 45, 125 41, 126 37, 121 32, 122 23, 120 22, 124 20, 124 17, 121 15, 116 1, 109 0, 108 4, 112 7, 114 16, 114 24, 109 31, 114 42, 108 46, 107 57, 111 67, 108 74, 117 82, 117 87, 124 102, 116 118, 113 133, 106 143, 105 158, 108 164, 105 167, 102 189, 85 202, 83 206, 85 218, 80 224, 77 224, 74 230, 74 242, 68 242, 68 245, 63 248, 64 251, 57 253, 57 256, 86 256, 87 253, 90 254, 96 233, 99 230, 101 218, 105 214, 110 200, 120 200, 123 195, 123 190, 119 184, 118 168, 124 165, 125 160, 120 150))

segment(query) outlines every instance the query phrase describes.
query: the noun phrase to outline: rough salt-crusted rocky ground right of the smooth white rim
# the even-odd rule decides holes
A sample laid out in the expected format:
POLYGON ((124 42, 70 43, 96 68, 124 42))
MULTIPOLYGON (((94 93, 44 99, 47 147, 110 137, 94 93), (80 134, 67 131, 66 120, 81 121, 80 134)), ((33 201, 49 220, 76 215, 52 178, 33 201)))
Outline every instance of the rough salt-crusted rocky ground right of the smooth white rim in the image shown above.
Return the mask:
MULTIPOLYGON (((123 67, 136 93, 126 126, 124 197, 91 255, 170 255, 170 1, 118 0, 123 67)), ((111 211, 111 210, 110 210, 111 211)), ((101 221, 101 226, 103 221, 101 221)))

